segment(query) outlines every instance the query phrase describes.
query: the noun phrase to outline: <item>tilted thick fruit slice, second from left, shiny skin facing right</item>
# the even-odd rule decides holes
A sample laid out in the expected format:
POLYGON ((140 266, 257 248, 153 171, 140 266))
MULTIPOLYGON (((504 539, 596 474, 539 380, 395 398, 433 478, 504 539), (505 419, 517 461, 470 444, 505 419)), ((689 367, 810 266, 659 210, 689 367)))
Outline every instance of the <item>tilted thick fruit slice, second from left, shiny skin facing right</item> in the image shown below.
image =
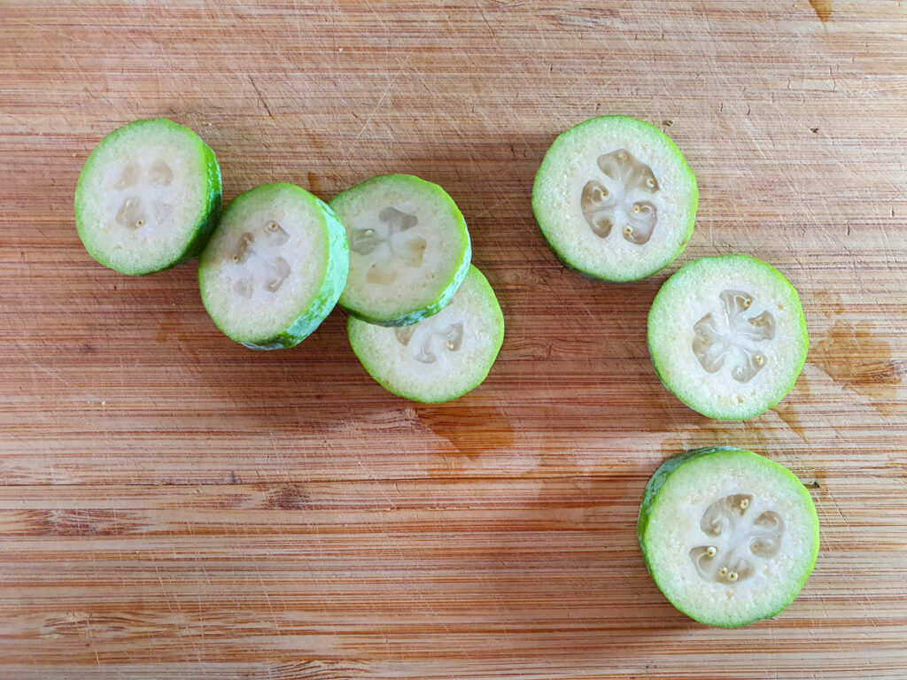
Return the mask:
POLYGON ((224 210, 199 258, 201 300, 219 329, 252 349, 301 342, 346 284, 346 232, 322 200, 265 184, 224 210))

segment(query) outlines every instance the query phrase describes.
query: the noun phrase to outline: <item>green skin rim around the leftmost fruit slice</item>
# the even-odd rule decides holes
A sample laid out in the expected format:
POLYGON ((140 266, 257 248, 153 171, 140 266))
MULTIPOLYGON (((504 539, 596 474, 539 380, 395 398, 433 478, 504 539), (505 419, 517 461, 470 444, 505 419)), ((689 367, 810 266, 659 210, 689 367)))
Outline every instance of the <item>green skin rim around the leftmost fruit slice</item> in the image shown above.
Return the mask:
POLYGON ((82 172, 79 173, 79 181, 75 185, 75 228, 78 231, 79 238, 82 239, 83 246, 85 250, 88 251, 88 254, 91 255, 95 261, 102 264, 104 267, 118 271, 121 274, 127 274, 130 276, 144 276, 146 274, 154 274, 159 271, 164 271, 165 269, 170 269, 171 267, 176 267, 177 265, 187 262, 193 257, 196 257, 205 247, 205 244, 208 243, 208 239, 211 236, 211 232, 214 231, 215 226, 217 226, 218 220, 220 218, 220 199, 221 199, 221 181, 220 181, 220 166, 218 164, 218 159, 214 155, 214 151, 211 150, 210 146, 206 144, 196 133, 195 131, 187 128, 185 125, 180 125, 179 123, 169 121, 166 118, 150 118, 143 121, 134 121, 128 125, 122 126, 122 128, 117 128, 112 131, 106 137, 98 143, 98 146, 95 147, 95 151, 92 151, 89 155, 88 160, 85 160, 85 165, 83 166, 82 172), (201 167, 206 171, 205 185, 207 187, 205 191, 205 207, 201 212, 201 219, 192 229, 192 237, 186 248, 180 253, 180 255, 174 259, 172 262, 164 265, 163 267, 157 267, 155 269, 136 269, 134 271, 123 271, 122 269, 117 269, 113 267, 109 261, 103 257, 101 253, 93 250, 89 245, 89 242, 85 240, 83 236, 83 228, 85 224, 85 219, 82 216, 81 205, 83 204, 83 177, 86 175, 86 170, 91 168, 96 159, 95 151, 101 147, 107 141, 115 141, 117 137, 122 134, 122 131, 126 128, 132 128, 133 126, 142 126, 149 123, 155 123, 158 125, 166 125, 168 127, 178 129, 181 131, 190 131, 192 136, 198 141, 199 153, 201 156, 201 167))

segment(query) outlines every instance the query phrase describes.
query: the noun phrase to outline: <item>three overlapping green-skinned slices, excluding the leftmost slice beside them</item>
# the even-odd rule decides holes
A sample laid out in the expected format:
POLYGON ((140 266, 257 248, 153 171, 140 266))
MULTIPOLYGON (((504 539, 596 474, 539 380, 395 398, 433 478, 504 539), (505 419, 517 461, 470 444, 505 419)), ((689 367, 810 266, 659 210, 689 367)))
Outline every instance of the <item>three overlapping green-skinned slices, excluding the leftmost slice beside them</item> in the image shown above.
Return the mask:
POLYGON ((483 382, 502 345, 501 307, 471 257, 453 199, 417 177, 375 177, 329 204, 266 184, 224 211, 200 257, 201 298, 253 349, 297 345, 339 304, 379 384, 446 402, 483 382))

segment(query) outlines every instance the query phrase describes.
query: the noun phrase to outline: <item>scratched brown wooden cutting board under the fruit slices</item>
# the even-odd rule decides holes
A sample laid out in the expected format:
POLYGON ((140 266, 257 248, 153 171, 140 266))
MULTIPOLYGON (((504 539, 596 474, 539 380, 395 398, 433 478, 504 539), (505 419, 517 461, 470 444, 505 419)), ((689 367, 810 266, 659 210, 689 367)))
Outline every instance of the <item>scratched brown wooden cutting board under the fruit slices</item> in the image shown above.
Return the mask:
POLYGON ((907 8, 901 2, 0 5, 0 678, 907 677, 907 8), (579 277, 532 221, 554 136, 653 122, 701 191, 639 284, 579 277), (83 161, 190 125, 224 198, 409 172, 500 296, 482 387, 385 393, 331 316, 293 350, 219 335, 195 266, 123 277, 73 227, 83 161), (745 252, 799 288, 795 390, 716 423, 659 383, 660 284, 745 252), (685 449, 751 448, 814 494, 814 576, 701 627, 635 519, 685 449))

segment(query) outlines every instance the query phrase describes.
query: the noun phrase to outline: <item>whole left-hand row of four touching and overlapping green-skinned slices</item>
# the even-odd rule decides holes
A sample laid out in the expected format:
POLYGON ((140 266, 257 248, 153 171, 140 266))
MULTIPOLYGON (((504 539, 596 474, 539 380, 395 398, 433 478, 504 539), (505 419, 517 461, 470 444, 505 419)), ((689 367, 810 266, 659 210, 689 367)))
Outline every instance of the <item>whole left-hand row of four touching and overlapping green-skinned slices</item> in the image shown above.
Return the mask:
POLYGON ((92 257, 123 274, 199 255, 211 319, 252 349, 297 345, 339 303, 368 373, 408 399, 462 396, 501 349, 501 306, 470 264, 463 214, 412 175, 372 178, 330 205, 293 184, 265 184, 221 215, 208 145, 166 119, 135 121, 85 163, 75 218, 92 257))

